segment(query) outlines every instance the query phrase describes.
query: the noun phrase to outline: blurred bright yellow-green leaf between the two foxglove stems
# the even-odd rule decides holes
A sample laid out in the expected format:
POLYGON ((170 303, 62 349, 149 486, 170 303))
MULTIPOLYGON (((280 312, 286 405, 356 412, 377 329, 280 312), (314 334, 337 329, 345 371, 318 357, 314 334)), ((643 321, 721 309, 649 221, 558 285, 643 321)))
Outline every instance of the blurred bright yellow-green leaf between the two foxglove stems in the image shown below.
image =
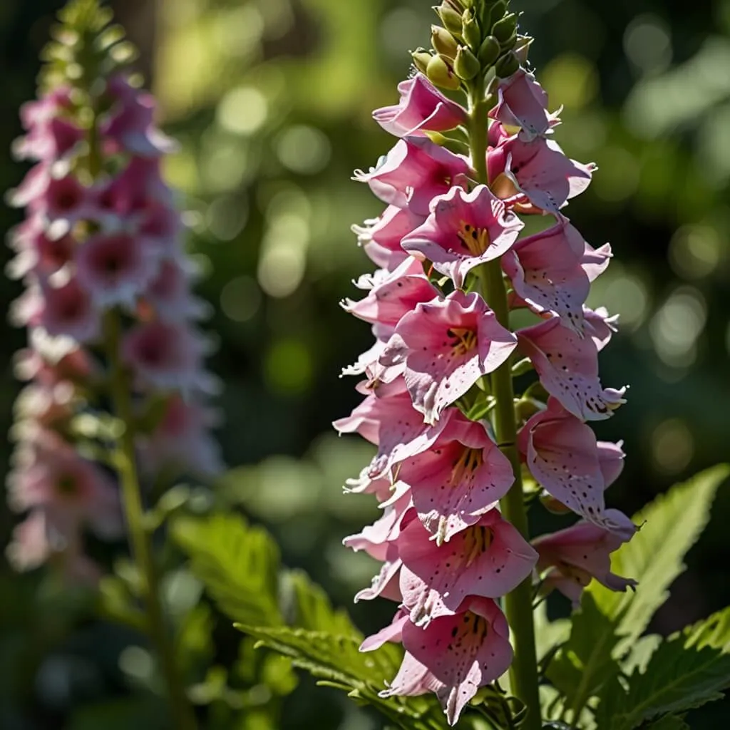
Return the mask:
POLYGON ((191 558, 191 571, 226 615, 254 626, 283 623, 277 597, 279 550, 264 529, 240 515, 180 516, 172 538, 191 558))

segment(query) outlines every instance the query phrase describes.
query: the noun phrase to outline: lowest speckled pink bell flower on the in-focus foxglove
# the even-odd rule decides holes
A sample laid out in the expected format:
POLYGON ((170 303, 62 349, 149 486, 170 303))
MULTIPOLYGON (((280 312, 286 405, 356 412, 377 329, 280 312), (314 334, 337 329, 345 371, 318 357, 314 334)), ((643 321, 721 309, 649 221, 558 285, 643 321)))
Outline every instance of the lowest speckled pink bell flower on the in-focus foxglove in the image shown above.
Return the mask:
POLYGON ((435 618, 426 629, 396 615, 393 625, 366 639, 361 650, 400 641, 406 654, 398 674, 380 696, 435 692, 449 725, 456 725, 466 704, 501 677, 512 664, 507 619, 491 599, 467 599, 454 615, 435 618))

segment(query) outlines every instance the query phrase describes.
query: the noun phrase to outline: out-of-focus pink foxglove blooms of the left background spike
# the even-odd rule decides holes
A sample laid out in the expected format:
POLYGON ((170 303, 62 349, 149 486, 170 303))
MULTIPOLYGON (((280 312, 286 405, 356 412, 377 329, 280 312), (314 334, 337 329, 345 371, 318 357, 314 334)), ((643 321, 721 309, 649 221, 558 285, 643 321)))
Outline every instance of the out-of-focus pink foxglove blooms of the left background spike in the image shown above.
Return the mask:
MULTIPOLYGON (((208 429, 207 342, 195 320, 195 270, 180 215, 161 177, 174 148, 155 128, 155 104, 121 72, 93 93, 64 85, 21 110, 15 155, 34 162, 10 200, 26 209, 12 231, 10 272, 26 290, 12 316, 28 328, 18 376, 9 501, 29 510, 9 556, 19 569, 53 558, 71 577, 96 567, 85 529, 119 537, 112 469, 112 361, 134 408, 137 456, 148 481, 220 466, 208 429), (104 429, 104 424, 107 428, 104 429), (110 436, 111 434, 111 436, 110 436)), ((127 429, 133 424, 126 423, 127 429)))

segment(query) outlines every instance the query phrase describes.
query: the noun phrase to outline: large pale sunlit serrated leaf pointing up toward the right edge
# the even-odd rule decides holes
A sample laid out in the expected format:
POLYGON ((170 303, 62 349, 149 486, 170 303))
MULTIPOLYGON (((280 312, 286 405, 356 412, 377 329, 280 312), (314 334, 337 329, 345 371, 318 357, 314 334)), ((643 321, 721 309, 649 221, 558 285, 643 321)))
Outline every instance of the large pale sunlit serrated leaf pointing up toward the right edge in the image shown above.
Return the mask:
POLYGON ((707 524, 715 493, 729 473, 726 464, 707 469, 634 515, 642 528, 615 553, 612 570, 639 581, 636 595, 614 593, 595 580, 588 587, 599 609, 618 621, 618 634, 626 643, 643 633, 666 601, 669 586, 685 569, 685 553, 707 524))

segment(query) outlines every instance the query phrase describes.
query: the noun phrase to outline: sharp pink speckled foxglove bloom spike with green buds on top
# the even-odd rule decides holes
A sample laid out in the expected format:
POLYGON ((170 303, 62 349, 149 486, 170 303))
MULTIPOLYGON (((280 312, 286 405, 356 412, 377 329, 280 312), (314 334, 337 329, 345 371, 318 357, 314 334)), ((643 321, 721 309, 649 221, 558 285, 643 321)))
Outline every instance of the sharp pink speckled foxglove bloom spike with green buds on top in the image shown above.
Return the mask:
POLYGON ((558 117, 510 50, 515 34, 502 38, 505 21, 515 31, 514 15, 490 18, 494 4, 486 2, 479 16, 480 4, 464 5, 445 0, 437 9, 453 34, 434 28, 436 53, 415 53, 420 71, 399 85, 399 104, 374 112, 399 141, 377 167, 356 172, 387 207, 353 230, 380 268, 356 283, 364 298, 343 307, 372 324, 376 343, 345 370, 363 377, 364 401, 335 423, 377 447, 347 487, 374 494, 383 510, 345 539, 383 562, 356 600, 398 604, 391 626, 362 650, 401 642, 403 663, 383 696, 434 691, 451 724, 512 661, 499 599, 531 577, 573 601, 593 577, 625 590, 633 582, 610 572, 610 553, 636 529, 604 503, 621 472, 621 445, 596 441, 586 423, 609 418, 624 393, 604 388, 598 372, 615 319, 585 306, 610 247, 591 247, 564 214, 594 167, 554 142, 558 117), (472 110, 437 85, 469 92, 472 110), (493 99, 476 132, 485 160, 473 157, 473 146, 469 157, 451 151, 475 134, 479 88, 477 102, 493 99), (526 215, 538 232, 523 235, 526 215), (536 323, 510 331, 488 306, 483 281, 495 266, 510 308, 530 310, 536 323), (539 388, 513 409, 499 404, 492 378, 518 362, 537 372, 539 388), (498 407, 516 419, 516 445, 497 442, 488 414, 498 407), (499 503, 521 488, 520 460, 553 505, 580 523, 530 545, 504 518, 499 503))

